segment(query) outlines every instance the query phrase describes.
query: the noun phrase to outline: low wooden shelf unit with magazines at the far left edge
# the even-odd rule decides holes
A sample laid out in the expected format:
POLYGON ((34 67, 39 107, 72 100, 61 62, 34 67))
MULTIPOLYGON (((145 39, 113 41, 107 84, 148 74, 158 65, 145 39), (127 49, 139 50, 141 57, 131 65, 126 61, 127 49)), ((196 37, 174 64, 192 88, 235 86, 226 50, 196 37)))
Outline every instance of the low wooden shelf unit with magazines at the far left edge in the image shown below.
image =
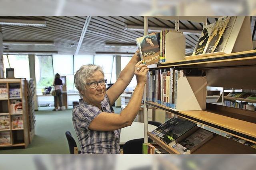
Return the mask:
MULTIPOLYGON (((0 79, 0 84, 7 89, 7 94, 5 94, 7 99, 0 101, 0 116, 9 118, 10 127, 9 129, 0 130, 0 148, 17 146, 26 148, 29 143, 27 81, 26 79, 0 79), (19 89, 20 93, 10 94, 10 89, 19 89), (22 108, 20 108, 20 105, 22 105, 22 108)), ((16 91, 14 90, 14 92, 16 91)))

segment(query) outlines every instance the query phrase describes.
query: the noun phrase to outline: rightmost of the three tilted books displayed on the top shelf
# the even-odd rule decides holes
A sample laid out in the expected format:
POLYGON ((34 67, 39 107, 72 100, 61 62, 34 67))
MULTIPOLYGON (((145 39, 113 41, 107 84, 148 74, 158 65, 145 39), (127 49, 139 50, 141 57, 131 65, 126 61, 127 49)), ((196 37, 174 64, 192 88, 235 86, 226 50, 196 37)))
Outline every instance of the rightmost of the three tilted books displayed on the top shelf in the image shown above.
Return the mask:
POLYGON ((219 41, 218 45, 216 46, 216 49, 214 50, 214 52, 224 51, 226 44, 228 42, 228 38, 230 37, 230 33, 235 24, 235 21, 236 21, 236 16, 230 17, 230 20, 226 26, 226 29, 224 30, 224 33, 222 34, 220 41, 219 41))

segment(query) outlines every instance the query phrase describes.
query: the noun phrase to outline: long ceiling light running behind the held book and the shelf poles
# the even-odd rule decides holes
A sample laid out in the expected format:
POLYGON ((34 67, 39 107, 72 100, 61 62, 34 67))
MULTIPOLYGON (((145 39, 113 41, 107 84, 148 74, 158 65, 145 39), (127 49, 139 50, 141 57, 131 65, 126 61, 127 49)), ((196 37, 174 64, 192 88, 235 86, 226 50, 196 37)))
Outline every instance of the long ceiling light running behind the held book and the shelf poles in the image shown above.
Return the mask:
MULTIPOLYGON (((124 30, 144 31, 144 26, 126 25, 124 26, 124 30)), ((160 32, 162 30, 174 30, 174 28, 148 26, 149 32, 160 32)), ((189 29, 179 29, 179 31, 183 32, 184 34, 198 34, 198 35, 201 35, 201 32, 202 32, 202 30, 189 30, 189 29)))

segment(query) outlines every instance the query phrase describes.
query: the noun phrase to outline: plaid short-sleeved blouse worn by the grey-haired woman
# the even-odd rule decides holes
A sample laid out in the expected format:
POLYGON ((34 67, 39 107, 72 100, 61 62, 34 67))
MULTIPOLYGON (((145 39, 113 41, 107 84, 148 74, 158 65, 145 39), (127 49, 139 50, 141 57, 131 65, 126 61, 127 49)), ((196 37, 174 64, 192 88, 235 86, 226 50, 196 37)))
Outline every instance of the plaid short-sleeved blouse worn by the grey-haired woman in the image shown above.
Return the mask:
MULTIPOLYGON (((111 113, 107 95, 100 103, 102 111, 111 113)), ((97 131, 88 129, 92 120, 102 112, 82 99, 72 111, 72 121, 79 140, 81 154, 120 154, 120 129, 97 131)))

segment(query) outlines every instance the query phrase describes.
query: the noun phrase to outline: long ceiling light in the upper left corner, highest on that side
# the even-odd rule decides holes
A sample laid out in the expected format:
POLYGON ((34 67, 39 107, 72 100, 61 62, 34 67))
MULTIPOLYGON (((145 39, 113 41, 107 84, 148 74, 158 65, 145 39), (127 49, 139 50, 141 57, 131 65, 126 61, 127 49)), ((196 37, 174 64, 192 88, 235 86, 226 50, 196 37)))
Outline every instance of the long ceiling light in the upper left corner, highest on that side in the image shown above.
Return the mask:
POLYGON ((0 25, 46 27, 44 20, 0 19, 0 25))

